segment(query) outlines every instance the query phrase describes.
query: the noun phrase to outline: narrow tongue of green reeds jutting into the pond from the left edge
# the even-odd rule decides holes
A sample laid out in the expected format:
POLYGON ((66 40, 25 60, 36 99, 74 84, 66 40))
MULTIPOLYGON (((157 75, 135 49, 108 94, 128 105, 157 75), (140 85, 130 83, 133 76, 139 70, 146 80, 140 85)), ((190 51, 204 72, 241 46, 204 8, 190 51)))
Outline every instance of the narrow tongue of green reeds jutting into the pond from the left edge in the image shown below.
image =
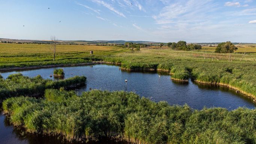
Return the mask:
POLYGON ((40 75, 29 78, 22 74, 12 74, 8 78, 0 78, 0 101, 14 96, 40 96, 45 89, 65 89, 80 86, 86 82, 86 77, 72 77, 65 80, 44 80, 40 75))

